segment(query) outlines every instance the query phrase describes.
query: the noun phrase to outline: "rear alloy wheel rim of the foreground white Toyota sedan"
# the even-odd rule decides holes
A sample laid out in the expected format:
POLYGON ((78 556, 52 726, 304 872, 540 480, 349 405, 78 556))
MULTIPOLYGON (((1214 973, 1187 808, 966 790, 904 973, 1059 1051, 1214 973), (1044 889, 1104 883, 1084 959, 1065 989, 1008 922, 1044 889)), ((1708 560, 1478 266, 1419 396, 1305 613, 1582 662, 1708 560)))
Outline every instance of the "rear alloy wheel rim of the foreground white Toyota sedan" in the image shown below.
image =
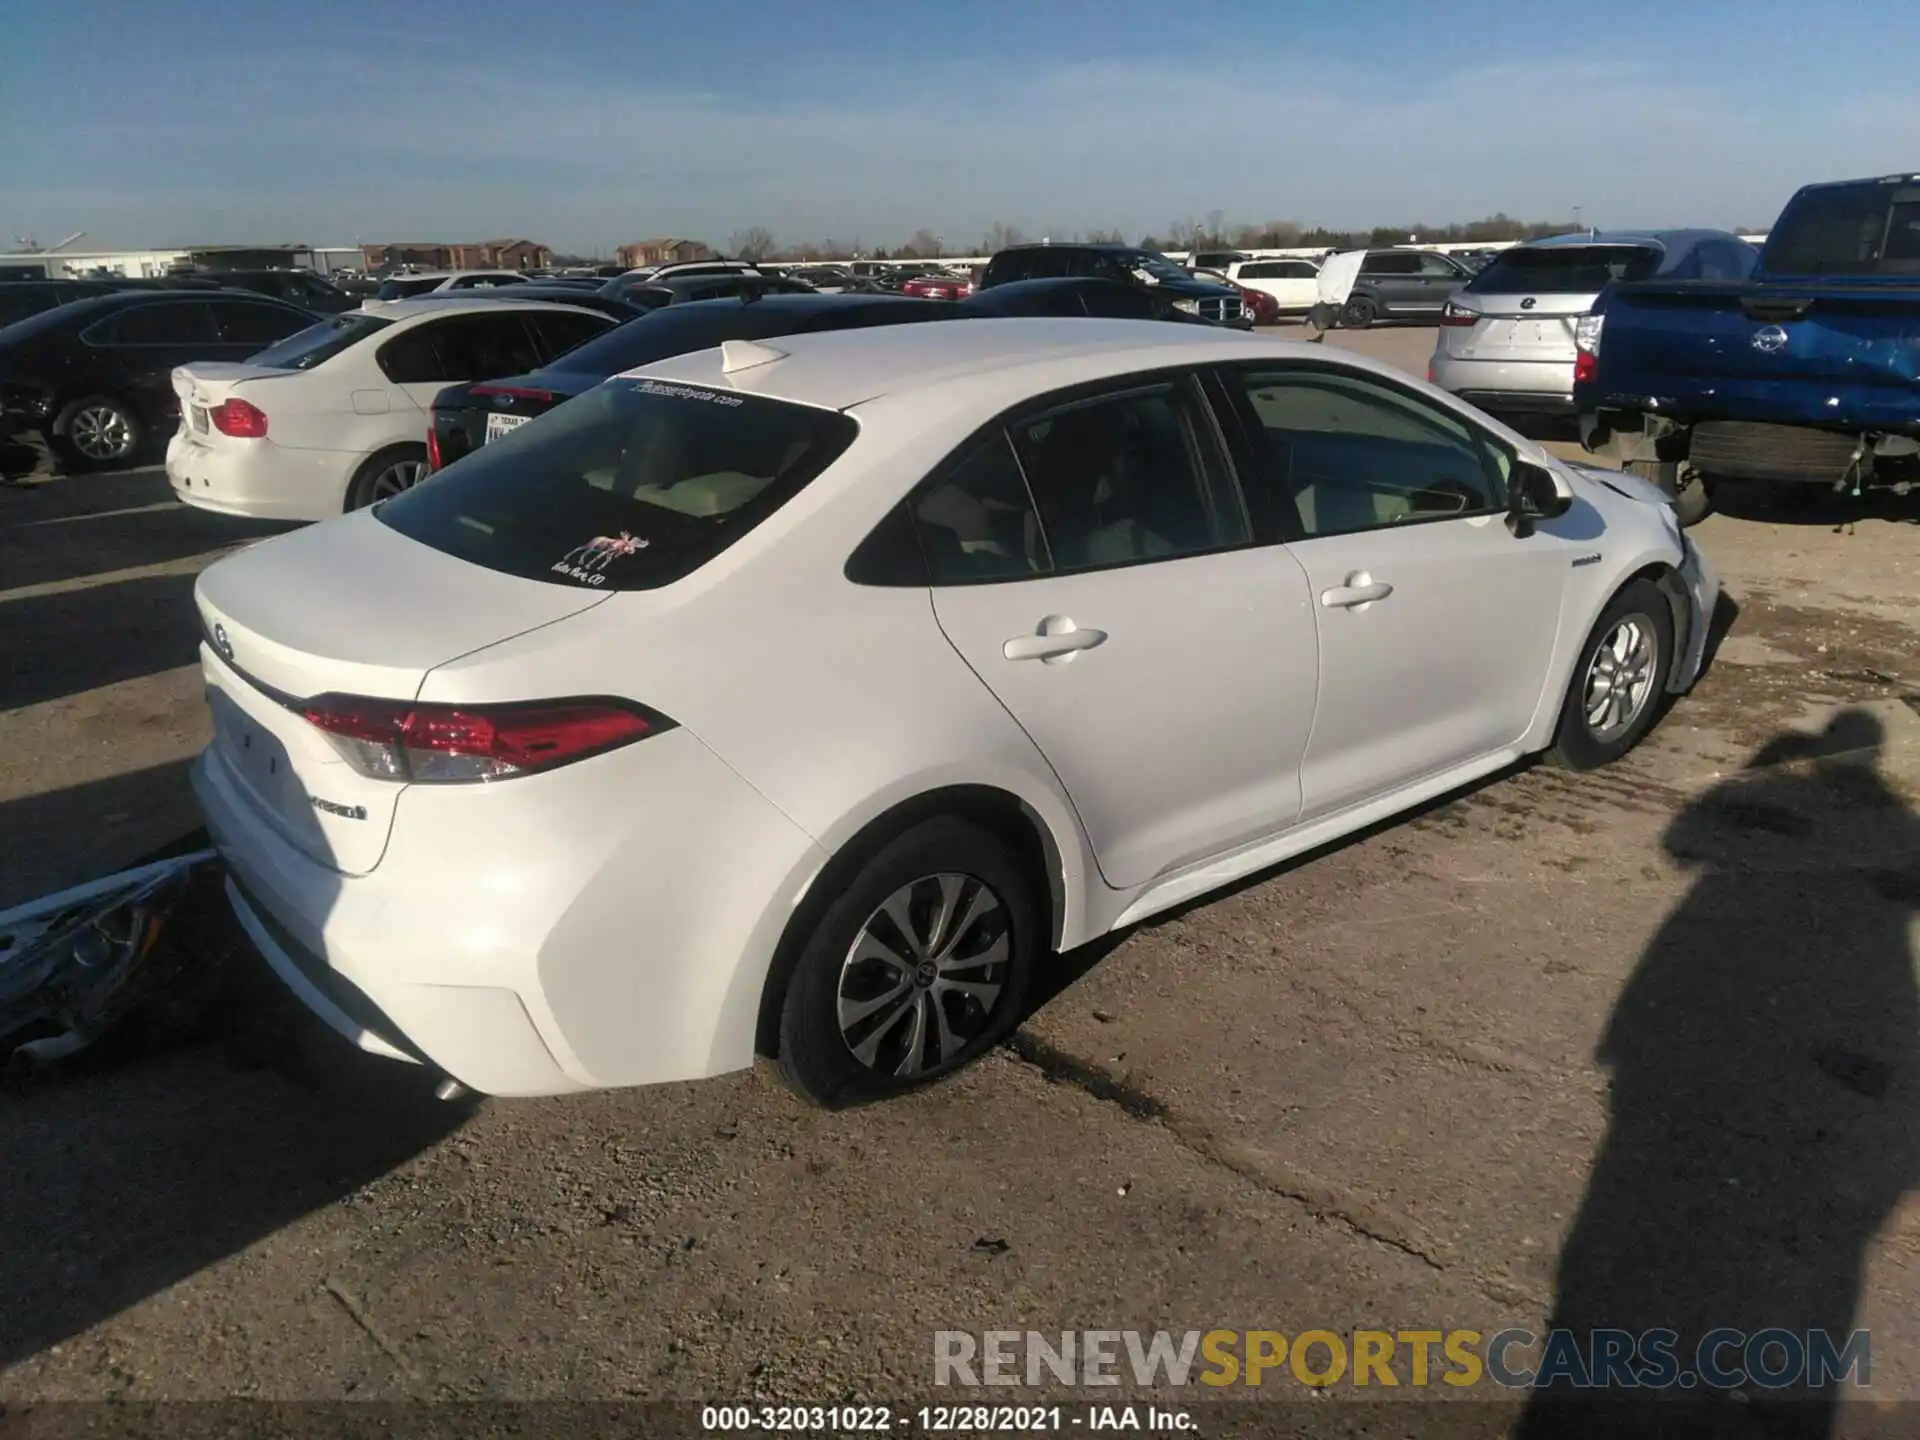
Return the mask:
POLYGON ((924 876, 860 927, 841 964, 841 1039, 876 1073, 956 1060, 995 1018, 1012 962, 1006 904, 975 876, 924 876))

